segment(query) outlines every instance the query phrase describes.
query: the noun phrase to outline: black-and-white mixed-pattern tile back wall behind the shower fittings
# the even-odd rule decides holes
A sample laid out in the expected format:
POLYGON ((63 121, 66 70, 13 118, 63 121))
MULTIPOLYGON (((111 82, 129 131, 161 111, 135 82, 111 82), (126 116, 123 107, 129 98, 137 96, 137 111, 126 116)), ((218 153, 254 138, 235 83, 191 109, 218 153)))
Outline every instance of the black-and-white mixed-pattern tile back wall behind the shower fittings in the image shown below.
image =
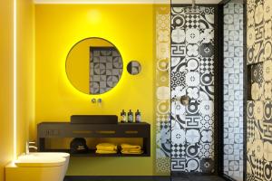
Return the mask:
POLYGON ((171 7, 171 171, 214 172, 215 8, 171 7), (183 106, 180 97, 188 95, 183 106))

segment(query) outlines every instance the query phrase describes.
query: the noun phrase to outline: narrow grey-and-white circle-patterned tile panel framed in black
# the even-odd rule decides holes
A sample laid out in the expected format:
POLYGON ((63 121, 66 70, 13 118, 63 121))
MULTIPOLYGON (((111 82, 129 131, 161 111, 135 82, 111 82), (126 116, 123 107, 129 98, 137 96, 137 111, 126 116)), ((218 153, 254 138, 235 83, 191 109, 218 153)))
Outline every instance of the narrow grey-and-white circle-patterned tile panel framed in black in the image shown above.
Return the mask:
POLYGON ((243 0, 224 6, 224 174, 243 180, 243 0))

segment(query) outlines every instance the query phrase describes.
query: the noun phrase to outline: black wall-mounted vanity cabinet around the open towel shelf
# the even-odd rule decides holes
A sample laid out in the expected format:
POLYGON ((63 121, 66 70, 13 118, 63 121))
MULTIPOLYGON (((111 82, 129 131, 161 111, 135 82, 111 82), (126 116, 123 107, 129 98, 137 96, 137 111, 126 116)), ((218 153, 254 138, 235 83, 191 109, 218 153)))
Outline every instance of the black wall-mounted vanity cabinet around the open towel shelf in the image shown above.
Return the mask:
POLYGON ((42 122, 38 124, 38 151, 67 152, 69 149, 45 148, 46 138, 142 138, 143 154, 71 154, 72 157, 151 157, 151 125, 141 123, 72 124, 70 122, 42 122))

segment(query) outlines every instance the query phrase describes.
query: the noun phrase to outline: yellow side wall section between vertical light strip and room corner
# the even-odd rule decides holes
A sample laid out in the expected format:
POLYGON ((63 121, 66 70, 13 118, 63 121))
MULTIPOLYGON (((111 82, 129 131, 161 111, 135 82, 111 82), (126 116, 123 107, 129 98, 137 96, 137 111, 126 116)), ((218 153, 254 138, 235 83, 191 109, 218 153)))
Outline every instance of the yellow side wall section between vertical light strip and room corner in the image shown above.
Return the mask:
POLYGON ((34 4, 17 1, 17 154, 34 135, 34 4))

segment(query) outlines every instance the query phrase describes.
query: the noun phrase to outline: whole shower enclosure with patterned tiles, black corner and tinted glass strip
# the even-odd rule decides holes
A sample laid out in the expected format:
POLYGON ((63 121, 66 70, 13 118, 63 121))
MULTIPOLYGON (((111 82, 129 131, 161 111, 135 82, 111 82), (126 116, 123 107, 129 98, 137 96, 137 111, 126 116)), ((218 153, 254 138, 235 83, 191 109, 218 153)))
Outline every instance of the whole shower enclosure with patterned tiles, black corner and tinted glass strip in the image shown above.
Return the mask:
POLYGON ((156 171, 244 180, 245 4, 180 3, 155 11, 156 171))

